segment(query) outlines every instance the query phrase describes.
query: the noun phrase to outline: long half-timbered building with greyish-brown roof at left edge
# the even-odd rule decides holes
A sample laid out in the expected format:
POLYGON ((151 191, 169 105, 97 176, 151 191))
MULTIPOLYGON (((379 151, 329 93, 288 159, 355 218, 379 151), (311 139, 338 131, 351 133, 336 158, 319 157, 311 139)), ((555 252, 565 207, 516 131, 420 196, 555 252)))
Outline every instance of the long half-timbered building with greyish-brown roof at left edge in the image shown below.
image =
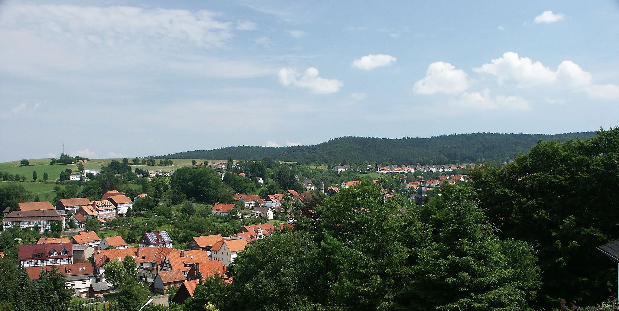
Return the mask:
MULTIPOLYGON (((49 203, 49 202, 48 202, 49 203)), ((29 228, 34 230, 38 227, 39 232, 51 230, 51 224, 58 222, 64 228, 64 216, 55 209, 44 209, 41 211, 12 211, 2 219, 2 228, 18 226, 22 229, 29 228)))

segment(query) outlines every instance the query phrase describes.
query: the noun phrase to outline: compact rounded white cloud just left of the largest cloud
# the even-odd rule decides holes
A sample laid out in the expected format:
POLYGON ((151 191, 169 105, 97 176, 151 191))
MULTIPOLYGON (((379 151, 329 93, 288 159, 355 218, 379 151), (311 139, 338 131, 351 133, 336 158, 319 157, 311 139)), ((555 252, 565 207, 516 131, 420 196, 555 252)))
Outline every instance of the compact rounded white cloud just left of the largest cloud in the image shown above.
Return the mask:
POLYGON ((435 94, 443 92, 457 94, 469 88, 467 74, 462 69, 456 69, 452 64, 437 61, 431 63, 426 76, 415 83, 413 90, 417 94, 435 94))

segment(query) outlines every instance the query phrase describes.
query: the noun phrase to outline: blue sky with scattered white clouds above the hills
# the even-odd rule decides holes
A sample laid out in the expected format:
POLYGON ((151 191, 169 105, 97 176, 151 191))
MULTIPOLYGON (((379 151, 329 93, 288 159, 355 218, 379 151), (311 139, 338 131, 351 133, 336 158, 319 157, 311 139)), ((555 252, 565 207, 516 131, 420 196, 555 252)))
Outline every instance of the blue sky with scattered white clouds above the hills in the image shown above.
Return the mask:
POLYGON ((0 162, 619 125, 619 2, 1 1, 0 162))

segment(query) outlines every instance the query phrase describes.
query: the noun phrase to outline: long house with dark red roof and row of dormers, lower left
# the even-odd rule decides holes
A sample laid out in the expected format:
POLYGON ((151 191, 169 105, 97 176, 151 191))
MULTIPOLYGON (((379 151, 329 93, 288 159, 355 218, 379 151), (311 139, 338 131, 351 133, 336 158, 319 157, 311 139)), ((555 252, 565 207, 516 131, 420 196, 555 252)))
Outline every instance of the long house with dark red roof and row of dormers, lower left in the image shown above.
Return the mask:
POLYGON ((20 267, 59 266, 73 263, 73 244, 22 244, 17 250, 20 267))

